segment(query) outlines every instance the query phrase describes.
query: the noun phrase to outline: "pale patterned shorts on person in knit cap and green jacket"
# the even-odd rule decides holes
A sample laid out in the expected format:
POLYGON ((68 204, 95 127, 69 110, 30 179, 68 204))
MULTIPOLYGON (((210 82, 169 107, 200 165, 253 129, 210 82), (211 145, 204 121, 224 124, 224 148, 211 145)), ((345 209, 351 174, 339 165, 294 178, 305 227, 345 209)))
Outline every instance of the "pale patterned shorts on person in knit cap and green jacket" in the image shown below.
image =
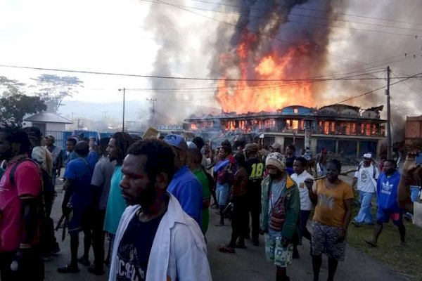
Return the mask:
POLYGON ((281 244, 281 237, 274 237, 267 233, 264 235, 265 240, 265 257, 267 261, 273 261, 274 266, 286 268, 292 263, 293 259, 293 244, 288 244, 283 247, 281 244))

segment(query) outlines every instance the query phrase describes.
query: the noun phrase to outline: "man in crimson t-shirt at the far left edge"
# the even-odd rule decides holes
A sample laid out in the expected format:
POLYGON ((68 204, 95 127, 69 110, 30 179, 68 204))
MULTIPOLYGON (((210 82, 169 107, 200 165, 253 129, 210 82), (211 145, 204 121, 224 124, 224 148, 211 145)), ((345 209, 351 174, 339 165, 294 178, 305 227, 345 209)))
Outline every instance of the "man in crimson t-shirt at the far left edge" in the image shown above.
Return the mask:
POLYGON ((31 143, 18 126, 0 128, 0 275, 2 281, 44 280, 39 249, 39 167, 27 156, 31 143))

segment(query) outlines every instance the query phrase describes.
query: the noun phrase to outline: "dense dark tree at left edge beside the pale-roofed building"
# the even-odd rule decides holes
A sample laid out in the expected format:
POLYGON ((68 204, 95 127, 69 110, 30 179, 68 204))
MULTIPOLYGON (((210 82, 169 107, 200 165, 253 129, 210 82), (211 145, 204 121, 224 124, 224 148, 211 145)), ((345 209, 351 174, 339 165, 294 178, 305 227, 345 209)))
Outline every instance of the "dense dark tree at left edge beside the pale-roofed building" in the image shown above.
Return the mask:
POLYGON ((0 98, 0 121, 20 124, 26 114, 35 114, 46 109, 46 104, 38 96, 25 96, 18 93, 0 98))

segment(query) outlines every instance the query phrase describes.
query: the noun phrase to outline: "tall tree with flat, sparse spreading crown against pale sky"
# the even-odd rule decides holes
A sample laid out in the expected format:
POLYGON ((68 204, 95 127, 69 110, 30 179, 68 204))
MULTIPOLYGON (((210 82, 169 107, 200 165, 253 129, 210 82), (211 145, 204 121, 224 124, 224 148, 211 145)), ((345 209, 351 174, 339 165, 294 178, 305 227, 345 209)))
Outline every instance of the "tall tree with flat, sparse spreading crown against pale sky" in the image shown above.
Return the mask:
POLYGON ((84 84, 84 81, 77 77, 60 77, 54 74, 41 74, 32 80, 37 82, 36 85, 33 85, 38 89, 37 96, 52 112, 57 112, 63 103, 63 98, 72 97, 73 93, 77 93, 77 88, 83 87, 82 84, 84 84))

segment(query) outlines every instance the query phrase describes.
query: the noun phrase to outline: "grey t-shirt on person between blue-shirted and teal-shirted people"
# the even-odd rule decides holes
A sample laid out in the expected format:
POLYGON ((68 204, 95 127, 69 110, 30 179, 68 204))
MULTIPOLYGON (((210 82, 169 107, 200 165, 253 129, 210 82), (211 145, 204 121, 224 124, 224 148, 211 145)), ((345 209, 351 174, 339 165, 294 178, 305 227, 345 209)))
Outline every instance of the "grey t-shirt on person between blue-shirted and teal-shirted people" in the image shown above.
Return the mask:
POLYGON ((116 162, 110 162, 108 157, 101 157, 95 164, 91 185, 102 188, 98 209, 105 210, 107 207, 108 193, 110 192, 111 177, 113 176, 116 162))

